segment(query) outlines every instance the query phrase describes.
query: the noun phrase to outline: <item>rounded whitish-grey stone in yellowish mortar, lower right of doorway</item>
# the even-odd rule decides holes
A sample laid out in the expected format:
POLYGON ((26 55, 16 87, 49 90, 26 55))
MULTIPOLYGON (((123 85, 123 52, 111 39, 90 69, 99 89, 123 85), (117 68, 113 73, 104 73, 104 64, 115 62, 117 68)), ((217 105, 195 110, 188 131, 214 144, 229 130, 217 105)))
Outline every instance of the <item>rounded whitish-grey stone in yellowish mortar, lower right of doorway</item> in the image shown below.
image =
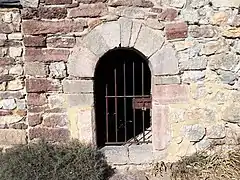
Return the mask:
POLYGON ((206 129, 199 124, 185 126, 182 131, 190 142, 199 142, 206 134, 206 129))

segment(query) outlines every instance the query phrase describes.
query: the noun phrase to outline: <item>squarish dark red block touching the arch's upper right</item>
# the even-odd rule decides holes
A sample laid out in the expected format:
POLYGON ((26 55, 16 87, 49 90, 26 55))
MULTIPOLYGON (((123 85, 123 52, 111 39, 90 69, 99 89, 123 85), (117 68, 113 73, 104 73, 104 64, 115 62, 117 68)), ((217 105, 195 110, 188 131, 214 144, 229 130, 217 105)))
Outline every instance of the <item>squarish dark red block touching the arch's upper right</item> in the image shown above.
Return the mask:
POLYGON ((185 22, 174 22, 166 24, 167 39, 186 38, 188 36, 188 26, 185 22))

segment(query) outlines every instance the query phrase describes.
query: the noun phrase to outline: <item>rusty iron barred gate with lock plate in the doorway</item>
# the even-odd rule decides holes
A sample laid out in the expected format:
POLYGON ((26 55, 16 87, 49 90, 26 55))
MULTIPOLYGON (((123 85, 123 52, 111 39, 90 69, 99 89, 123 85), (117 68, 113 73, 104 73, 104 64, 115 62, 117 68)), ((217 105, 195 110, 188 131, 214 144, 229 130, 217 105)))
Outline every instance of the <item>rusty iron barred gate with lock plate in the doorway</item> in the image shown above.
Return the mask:
POLYGON ((150 143, 146 138, 152 102, 148 64, 123 60, 108 71, 111 80, 105 84, 105 145, 150 143))

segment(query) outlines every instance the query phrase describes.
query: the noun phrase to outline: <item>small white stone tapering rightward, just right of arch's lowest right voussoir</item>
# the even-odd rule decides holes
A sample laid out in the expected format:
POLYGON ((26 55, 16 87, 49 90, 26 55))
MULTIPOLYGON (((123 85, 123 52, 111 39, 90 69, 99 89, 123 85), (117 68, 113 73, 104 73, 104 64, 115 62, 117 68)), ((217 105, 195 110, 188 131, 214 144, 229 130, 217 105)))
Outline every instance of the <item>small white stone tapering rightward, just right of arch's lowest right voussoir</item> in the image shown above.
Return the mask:
POLYGON ((206 71, 184 71, 182 81, 184 83, 192 83, 201 81, 205 78, 206 71))

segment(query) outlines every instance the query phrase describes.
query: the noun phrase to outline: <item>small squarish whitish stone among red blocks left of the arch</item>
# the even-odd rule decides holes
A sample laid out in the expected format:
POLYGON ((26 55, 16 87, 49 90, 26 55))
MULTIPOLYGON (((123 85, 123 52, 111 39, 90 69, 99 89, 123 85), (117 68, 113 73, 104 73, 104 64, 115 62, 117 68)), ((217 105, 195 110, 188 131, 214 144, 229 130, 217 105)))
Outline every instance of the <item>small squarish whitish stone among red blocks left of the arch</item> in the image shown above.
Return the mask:
POLYGON ((66 77, 66 66, 64 62, 51 63, 49 66, 50 76, 54 78, 64 78, 66 77))

